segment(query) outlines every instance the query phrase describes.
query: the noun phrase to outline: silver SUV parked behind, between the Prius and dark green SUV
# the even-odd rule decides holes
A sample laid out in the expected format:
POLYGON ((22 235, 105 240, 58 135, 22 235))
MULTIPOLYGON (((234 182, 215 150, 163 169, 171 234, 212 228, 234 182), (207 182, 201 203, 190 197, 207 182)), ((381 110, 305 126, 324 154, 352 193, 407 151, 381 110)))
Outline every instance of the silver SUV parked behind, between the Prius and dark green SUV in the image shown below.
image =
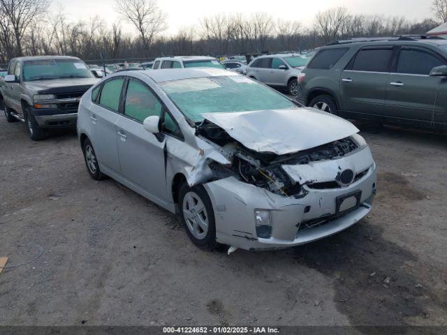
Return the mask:
POLYGON ((286 87, 288 94, 298 93, 298 75, 309 59, 300 54, 268 54, 255 58, 247 75, 272 87, 286 87))

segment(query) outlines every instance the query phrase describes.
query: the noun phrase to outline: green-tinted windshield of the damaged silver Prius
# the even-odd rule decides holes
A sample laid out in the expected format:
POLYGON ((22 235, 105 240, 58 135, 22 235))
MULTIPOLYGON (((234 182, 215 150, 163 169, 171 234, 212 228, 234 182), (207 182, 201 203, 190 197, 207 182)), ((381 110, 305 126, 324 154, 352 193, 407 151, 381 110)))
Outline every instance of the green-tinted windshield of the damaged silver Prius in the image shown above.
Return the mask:
POLYGON ((249 112, 296 108, 288 98, 248 77, 201 77, 162 82, 161 89, 191 121, 202 113, 249 112))

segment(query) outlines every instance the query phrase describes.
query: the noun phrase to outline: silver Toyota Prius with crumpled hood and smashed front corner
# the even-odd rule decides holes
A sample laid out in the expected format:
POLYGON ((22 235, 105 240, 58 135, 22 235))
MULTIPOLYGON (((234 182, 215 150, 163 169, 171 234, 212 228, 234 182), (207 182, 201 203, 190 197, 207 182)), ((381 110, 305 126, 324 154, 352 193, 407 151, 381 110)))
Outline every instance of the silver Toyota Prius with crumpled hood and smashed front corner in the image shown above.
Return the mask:
POLYGON ((201 248, 298 246, 372 209, 376 165, 349 121, 214 68, 109 75, 82 96, 87 171, 179 214, 201 248))

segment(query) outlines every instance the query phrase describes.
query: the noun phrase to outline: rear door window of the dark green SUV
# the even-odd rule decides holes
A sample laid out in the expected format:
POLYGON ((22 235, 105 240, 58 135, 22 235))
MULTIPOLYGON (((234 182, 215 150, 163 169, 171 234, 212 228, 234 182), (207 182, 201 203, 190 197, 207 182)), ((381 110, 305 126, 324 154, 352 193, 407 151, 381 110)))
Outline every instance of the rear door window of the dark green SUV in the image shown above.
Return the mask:
POLYGON ((392 49, 360 50, 353 62, 352 70, 368 72, 388 72, 392 49))

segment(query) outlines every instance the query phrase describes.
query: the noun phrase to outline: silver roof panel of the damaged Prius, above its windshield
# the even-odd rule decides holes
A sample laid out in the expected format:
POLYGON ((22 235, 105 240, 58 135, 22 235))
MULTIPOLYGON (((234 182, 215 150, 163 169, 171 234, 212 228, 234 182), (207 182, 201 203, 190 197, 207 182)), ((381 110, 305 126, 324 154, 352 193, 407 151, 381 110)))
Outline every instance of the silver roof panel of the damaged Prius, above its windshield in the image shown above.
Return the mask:
MULTIPOLYGON (((168 82, 200 77, 237 76, 239 74, 220 68, 161 68, 160 70, 138 70, 133 73, 142 73, 154 82, 168 82)), ((121 73, 122 74, 122 73, 121 73)))

